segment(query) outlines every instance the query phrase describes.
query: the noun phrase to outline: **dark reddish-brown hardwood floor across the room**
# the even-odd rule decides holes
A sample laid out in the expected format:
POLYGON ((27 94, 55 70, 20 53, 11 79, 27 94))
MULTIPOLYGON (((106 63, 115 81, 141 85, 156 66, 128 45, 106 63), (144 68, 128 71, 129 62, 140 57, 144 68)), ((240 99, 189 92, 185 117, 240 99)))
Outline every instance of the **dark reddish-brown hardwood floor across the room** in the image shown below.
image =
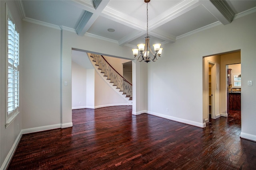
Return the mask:
POLYGON ((9 170, 255 170, 256 143, 238 114, 204 129, 132 107, 73 110, 73 127, 23 135, 9 170))

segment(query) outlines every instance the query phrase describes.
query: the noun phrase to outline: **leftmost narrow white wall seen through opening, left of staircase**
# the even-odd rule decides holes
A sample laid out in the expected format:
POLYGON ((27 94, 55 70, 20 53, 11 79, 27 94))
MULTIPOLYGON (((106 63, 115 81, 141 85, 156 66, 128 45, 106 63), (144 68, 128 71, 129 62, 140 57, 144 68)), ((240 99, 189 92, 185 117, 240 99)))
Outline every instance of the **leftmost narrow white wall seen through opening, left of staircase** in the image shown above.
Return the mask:
POLYGON ((72 109, 86 108, 86 69, 72 62, 72 109))

